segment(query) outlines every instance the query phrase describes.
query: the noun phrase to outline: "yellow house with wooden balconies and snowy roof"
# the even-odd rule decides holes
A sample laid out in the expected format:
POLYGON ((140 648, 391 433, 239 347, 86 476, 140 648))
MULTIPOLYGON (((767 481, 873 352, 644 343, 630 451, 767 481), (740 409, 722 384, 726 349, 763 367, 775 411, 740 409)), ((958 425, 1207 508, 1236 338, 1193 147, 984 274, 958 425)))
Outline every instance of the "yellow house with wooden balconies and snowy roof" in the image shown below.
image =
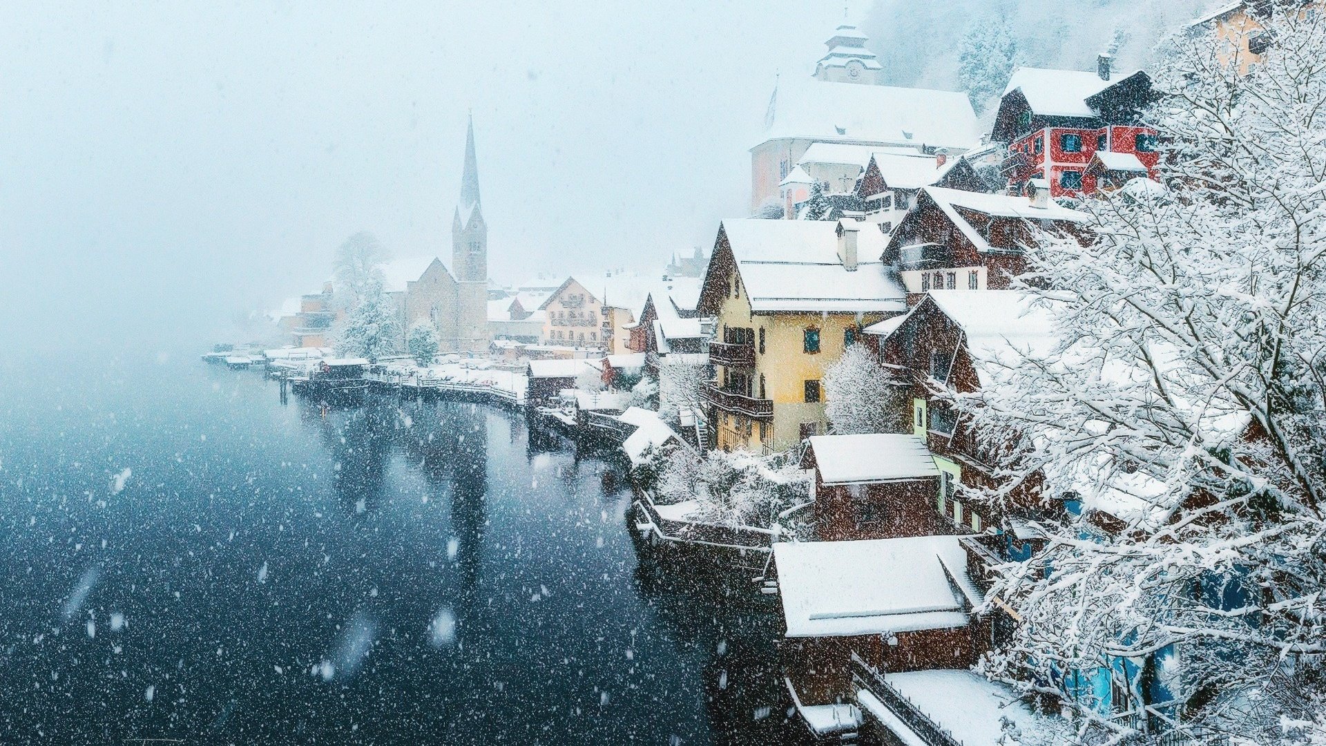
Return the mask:
POLYGON ((823 373, 861 329, 907 309, 887 236, 853 219, 724 220, 700 291, 715 320, 709 422, 723 450, 781 451, 826 431, 823 373))

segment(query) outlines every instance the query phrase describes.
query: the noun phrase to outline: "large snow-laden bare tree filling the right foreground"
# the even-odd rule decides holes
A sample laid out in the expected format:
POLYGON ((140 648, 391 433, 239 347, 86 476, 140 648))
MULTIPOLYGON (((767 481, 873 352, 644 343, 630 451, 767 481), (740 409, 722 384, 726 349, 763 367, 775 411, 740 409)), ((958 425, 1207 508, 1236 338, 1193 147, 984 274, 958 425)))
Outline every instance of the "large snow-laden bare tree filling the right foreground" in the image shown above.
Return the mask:
POLYGON ((1044 485, 1042 548, 992 589, 1020 623, 985 665, 1074 706, 1083 739, 1168 718, 1307 742, 1321 719, 1326 19, 1268 7, 1246 76, 1208 36, 1170 41, 1148 114, 1168 188, 1087 200, 1094 240, 1032 250, 1059 342, 959 398, 1004 454, 969 496, 1018 511, 1044 485), (1136 718, 1097 714, 1111 689, 1136 718))

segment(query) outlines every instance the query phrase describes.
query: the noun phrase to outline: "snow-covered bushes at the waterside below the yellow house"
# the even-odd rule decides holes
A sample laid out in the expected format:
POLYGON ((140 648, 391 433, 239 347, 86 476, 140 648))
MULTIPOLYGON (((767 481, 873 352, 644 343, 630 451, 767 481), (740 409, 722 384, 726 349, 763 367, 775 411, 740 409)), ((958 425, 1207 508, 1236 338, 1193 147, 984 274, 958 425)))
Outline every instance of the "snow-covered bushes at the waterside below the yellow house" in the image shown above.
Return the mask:
POLYGON ((778 511, 806 500, 809 478, 794 454, 699 453, 678 447, 651 466, 660 503, 696 500, 696 518, 728 526, 772 524, 778 511))

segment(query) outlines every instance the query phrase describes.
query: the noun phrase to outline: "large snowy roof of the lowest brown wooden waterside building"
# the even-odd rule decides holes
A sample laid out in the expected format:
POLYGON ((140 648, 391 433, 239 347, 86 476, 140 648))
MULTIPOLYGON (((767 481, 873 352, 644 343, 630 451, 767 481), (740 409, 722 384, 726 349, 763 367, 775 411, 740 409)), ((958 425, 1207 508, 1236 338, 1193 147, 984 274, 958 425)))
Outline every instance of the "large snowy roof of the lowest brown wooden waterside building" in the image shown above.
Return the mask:
POLYGON ((981 603, 957 536, 778 542, 773 560, 788 637, 952 629, 981 603))

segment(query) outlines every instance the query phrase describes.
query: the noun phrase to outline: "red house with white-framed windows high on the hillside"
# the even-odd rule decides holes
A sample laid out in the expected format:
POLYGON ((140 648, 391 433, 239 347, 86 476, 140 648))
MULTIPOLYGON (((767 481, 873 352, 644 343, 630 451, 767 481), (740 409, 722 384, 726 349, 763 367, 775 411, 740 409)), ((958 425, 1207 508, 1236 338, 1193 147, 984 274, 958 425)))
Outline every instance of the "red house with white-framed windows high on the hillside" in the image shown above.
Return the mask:
POLYGON ((1018 68, 991 135, 1008 143, 1004 173, 1021 192, 1046 179, 1052 196, 1081 196, 1154 177, 1156 130, 1140 126, 1151 101, 1144 72, 1114 76, 1102 54, 1095 73, 1018 68), (1102 158, 1094 158, 1098 153, 1102 158))

